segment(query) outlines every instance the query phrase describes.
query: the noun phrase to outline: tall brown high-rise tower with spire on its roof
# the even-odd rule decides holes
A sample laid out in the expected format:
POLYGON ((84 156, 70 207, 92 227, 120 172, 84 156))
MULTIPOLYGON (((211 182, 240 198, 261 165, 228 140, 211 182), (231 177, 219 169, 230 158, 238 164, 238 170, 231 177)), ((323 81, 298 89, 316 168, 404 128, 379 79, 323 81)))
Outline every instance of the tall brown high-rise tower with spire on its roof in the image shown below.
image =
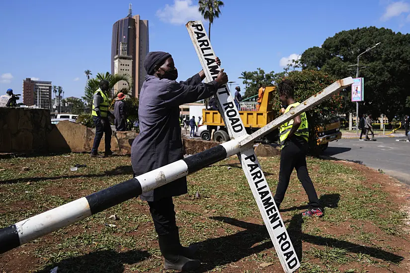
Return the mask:
MULTIPOLYGON (((140 15, 132 16, 130 4, 128 16, 116 21, 112 26, 111 73, 117 73, 116 69, 121 69, 119 65, 121 65, 123 61, 127 61, 124 65, 131 65, 131 70, 125 71, 130 71, 132 75, 133 86, 131 93, 134 97, 138 97, 145 79, 146 71, 144 69, 144 61, 148 52, 148 20, 141 20, 140 15), (124 49, 124 45, 126 47, 126 54, 121 52, 121 50, 124 49), (130 56, 131 59, 129 59, 129 57, 123 58, 123 56, 130 56), (115 68, 115 61, 117 61, 117 68, 115 68), (129 61, 131 61, 131 63, 129 63, 129 61)), ((118 72, 124 72, 124 70, 119 70, 118 72)))

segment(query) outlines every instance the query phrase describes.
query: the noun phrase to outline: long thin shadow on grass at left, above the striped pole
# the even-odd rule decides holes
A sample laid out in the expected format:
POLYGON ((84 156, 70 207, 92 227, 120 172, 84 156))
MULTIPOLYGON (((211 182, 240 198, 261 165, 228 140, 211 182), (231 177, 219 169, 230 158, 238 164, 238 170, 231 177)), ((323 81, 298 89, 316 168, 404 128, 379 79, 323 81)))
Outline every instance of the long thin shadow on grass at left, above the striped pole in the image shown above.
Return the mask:
POLYGON ((24 177, 24 178, 16 178, 16 179, 8 179, 0 181, 0 184, 14 184, 14 183, 25 183, 25 182, 37 182, 37 181, 45 181, 45 180, 57 180, 57 179, 73 179, 73 178, 80 178, 80 177, 103 177, 103 176, 116 176, 116 175, 133 175, 134 172, 132 167, 127 166, 118 166, 115 169, 105 171, 101 174, 79 174, 79 175, 62 175, 62 176, 52 176, 52 177, 24 177))

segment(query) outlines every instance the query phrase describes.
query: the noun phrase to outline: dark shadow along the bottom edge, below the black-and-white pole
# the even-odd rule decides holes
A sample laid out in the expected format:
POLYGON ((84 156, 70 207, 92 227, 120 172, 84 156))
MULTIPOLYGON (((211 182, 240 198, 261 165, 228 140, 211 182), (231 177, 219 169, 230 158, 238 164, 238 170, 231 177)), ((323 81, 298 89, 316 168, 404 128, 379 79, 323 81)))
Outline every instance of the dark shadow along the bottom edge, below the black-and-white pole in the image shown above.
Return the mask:
POLYGON ((36 273, 49 273, 55 267, 58 267, 58 273, 123 273, 124 264, 136 264, 148 257, 150 254, 147 251, 130 250, 118 253, 103 250, 63 260, 36 273))

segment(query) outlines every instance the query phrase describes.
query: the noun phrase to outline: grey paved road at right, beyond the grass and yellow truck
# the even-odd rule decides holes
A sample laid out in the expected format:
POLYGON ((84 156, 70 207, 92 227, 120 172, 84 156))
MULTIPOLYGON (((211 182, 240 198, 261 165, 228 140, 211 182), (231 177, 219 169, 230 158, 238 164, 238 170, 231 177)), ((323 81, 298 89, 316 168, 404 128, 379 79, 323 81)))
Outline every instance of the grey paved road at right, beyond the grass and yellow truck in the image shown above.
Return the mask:
POLYGON ((329 143, 325 155, 362 163, 410 185, 410 142, 404 137, 379 138, 377 141, 340 139, 329 143))

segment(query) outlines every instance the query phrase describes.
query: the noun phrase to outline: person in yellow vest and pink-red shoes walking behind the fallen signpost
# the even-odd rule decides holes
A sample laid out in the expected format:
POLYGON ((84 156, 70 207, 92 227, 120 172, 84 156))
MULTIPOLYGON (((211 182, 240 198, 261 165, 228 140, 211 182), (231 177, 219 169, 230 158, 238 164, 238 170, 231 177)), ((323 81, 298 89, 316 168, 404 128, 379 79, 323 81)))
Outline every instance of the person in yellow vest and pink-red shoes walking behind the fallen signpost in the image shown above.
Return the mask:
MULTIPOLYGON (((282 102, 282 114, 300 103, 293 98, 293 83, 285 79, 278 84, 279 97, 282 102)), ((276 205, 282 203, 286 190, 289 186, 290 175, 296 169, 298 178, 309 198, 309 209, 302 213, 303 216, 322 216, 323 211, 319 204, 318 195, 309 177, 306 166, 306 153, 309 145, 309 125, 306 113, 302 113, 293 120, 280 127, 280 142, 282 151, 280 154, 279 183, 276 188, 274 200, 276 205)))

